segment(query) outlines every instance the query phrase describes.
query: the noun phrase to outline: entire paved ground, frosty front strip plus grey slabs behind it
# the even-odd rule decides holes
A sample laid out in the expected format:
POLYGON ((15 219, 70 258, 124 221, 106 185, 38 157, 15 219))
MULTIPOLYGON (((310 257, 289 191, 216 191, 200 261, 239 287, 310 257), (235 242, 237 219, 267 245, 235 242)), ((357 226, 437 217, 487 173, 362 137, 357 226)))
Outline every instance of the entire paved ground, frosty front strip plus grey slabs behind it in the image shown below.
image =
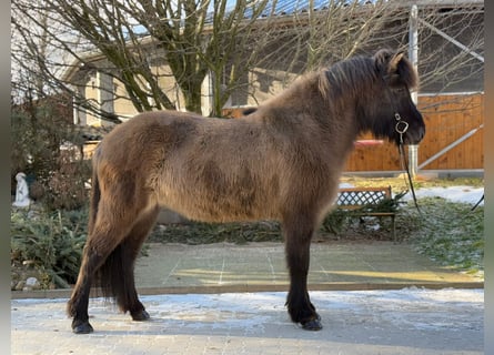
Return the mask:
POLYGON ((69 291, 12 293, 12 354, 483 354, 482 282, 406 244, 313 244, 321 332, 289 320, 280 243, 148 252, 135 274, 150 322, 91 298, 95 332, 75 335, 64 312, 69 291))

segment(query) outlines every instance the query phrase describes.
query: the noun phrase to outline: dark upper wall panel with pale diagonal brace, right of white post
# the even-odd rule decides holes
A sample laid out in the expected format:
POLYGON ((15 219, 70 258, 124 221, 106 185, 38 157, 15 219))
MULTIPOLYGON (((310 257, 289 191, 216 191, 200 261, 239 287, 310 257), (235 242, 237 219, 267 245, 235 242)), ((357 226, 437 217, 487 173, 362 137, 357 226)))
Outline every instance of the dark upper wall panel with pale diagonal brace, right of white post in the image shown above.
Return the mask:
POLYGON ((483 90, 484 6, 419 8, 421 85, 437 93, 483 90))

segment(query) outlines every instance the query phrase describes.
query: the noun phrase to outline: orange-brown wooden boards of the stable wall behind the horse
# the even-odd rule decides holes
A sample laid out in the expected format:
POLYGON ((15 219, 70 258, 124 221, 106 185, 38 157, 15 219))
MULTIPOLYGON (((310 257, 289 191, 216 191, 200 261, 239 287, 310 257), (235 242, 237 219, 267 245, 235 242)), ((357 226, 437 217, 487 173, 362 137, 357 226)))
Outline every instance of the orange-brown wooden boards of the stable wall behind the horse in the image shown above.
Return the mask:
MULTIPOLYGON (((426 133, 419 145, 419 170, 474 170, 484 168, 484 94, 419 97, 426 133)), ((241 110, 225 110, 240 116, 241 110)), ((375 141, 371 134, 359 140, 349 156, 345 172, 400 171, 397 148, 375 141)))

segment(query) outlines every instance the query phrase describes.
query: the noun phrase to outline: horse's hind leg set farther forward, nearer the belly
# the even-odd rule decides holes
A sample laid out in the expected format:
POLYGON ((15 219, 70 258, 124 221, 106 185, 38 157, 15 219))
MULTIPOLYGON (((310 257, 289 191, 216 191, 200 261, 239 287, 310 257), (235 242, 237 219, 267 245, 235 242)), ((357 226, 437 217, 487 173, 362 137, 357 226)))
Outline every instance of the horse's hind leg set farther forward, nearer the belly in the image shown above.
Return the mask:
POLYGON ((121 248, 121 270, 120 274, 113 275, 111 281, 115 284, 113 291, 117 304, 122 312, 129 312, 134 321, 147 321, 149 314, 142 303, 139 301, 138 292, 134 282, 134 265, 135 260, 141 251, 142 243, 145 241, 149 232, 158 216, 159 209, 153 209, 145 213, 134 224, 131 232, 125 236, 125 240, 119 245, 121 248))

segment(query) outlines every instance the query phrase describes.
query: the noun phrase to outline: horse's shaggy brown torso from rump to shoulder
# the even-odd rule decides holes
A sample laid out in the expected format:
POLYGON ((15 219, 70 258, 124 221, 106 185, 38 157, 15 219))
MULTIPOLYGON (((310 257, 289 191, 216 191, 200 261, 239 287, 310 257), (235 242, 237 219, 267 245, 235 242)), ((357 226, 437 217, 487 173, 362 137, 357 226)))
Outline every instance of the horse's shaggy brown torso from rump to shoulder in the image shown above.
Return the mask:
POLYGON ((263 112, 232 120, 140 114, 107 135, 97 165, 108 185, 124 183, 149 204, 193 220, 281 220, 296 205, 320 210, 333 179, 316 144, 298 125, 270 125, 263 112), (313 201, 319 194, 322 204, 313 201))

